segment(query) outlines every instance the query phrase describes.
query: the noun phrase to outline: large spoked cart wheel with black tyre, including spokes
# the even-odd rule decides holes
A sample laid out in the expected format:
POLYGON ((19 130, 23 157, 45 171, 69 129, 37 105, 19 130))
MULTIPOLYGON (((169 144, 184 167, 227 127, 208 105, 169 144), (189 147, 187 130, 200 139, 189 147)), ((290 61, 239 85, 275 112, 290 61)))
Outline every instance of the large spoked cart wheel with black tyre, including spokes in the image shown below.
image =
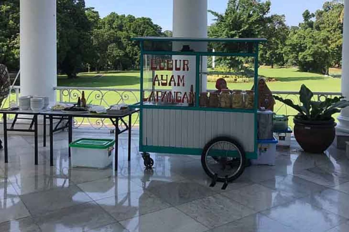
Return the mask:
POLYGON ((207 143, 201 154, 201 164, 206 174, 217 181, 233 181, 245 169, 245 152, 242 146, 228 137, 218 137, 207 143))

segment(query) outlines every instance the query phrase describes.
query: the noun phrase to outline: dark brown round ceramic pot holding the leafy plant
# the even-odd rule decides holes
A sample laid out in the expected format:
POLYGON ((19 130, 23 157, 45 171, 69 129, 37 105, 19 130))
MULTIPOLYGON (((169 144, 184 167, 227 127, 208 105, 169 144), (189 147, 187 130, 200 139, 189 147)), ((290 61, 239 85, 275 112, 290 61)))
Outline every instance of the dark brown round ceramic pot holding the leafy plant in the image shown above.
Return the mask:
POLYGON ((294 118, 294 134, 305 152, 323 153, 333 143, 336 130, 334 119, 328 121, 308 121, 294 118))

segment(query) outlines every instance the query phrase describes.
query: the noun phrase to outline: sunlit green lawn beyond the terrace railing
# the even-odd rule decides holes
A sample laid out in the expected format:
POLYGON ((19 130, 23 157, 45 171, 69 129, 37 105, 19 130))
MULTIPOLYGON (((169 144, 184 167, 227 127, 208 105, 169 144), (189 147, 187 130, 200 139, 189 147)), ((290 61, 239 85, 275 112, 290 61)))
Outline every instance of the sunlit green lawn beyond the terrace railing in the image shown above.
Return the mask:
MULTIPOLYGON (((336 70, 338 72, 338 70, 336 70)), ((139 89, 139 71, 102 73, 103 77, 94 78, 96 73, 83 73, 77 79, 58 77, 58 86, 67 87, 96 87, 96 88, 133 88, 139 89)), ((299 72, 293 68, 261 67, 259 74, 264 77, 275 78, 269 82, 272 91, 298 91, 300 85, 305 84, 314 92, 339 92, 340 78, 325 77, 322 74, 299 72)), ((228 83, 230 89, 250 89, 252 83, 228 83)), ((215 83, 209 82, 208 89, 215 89, 215 83)))

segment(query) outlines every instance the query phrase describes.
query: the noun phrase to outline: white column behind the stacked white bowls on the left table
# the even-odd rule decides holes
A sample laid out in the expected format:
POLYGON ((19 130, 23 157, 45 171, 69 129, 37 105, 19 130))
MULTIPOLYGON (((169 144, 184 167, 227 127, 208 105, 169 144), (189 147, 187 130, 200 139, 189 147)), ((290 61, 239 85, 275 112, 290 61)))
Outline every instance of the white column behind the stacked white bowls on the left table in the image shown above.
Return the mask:
POLYGON ((21 95, 56 100, 56 0, 20 0, 21 95))

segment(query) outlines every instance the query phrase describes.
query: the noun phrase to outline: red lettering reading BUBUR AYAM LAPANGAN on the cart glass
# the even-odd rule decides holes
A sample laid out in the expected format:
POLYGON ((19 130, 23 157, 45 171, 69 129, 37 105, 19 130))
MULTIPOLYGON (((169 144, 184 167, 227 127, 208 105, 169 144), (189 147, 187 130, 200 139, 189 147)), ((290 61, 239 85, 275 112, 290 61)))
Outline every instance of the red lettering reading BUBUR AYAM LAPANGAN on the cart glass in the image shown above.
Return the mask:
MULTIPOLYGON (((184 72, 188 72, 189 60, 187 59, 151 59, 150 70, 152 71, 179 71, 180 74, 154 74, 153 86, 170 86, 170 87, 184 87, 186 75, 184 72)), ((181 91, 151 91, 149 96, 145 96, 143 91, 144 102, 163 102, 163 103, 194 103, 193 86, 191 86, 190 92, 181 91)))

